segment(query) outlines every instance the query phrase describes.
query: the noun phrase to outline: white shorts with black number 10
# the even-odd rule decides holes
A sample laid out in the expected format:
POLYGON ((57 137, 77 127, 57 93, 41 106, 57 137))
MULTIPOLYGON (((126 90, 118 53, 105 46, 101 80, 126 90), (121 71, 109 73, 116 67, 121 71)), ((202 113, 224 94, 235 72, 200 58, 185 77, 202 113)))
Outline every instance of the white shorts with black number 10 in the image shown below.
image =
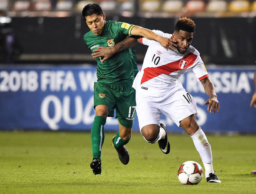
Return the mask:
POLYGON ((138 116, 140 131, 142 127, 149 124, 160 126, 160 115, 163 113, 171 119, 178 127, 179 122, 186 117, 197 114, 196 101, 186 92, 183 86, 179 85, 159 96, 147 95, 147 90, 136 90, 136 112, 138 116))

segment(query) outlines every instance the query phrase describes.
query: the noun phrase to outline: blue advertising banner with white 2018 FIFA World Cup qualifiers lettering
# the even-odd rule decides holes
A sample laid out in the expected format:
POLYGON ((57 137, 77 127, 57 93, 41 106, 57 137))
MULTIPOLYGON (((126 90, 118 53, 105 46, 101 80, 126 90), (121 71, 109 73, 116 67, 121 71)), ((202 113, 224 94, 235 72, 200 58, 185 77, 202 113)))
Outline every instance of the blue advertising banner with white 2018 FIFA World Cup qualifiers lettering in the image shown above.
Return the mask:
MULTIPOLYGON (((220 102, 220 112, 207 111, 208 96, 192 72, 181 82, 197 102, 197 121, 205 132, 255 133, 256 109, 249 106, 254 92, 254 66, 207 66, 220 102)), ((92 65, 1 66, 0 129, 90 131, 94 120, 92 65)), ((182 132, 164 115, 170 132, 182 132)), ((118 120, 108 117, 105 131, 118 130, 118 120)), ((139 131, 137 116, 133 131, 139 131)))

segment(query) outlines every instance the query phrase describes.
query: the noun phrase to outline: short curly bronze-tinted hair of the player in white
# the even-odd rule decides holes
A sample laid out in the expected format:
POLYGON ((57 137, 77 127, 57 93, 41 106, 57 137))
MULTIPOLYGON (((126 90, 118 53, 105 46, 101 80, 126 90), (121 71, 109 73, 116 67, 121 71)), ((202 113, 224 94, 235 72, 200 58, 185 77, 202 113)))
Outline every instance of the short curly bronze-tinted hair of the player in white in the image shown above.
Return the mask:
POLYGON ((186 32, 194 32, 195 33, 196 24, 194 21, 190 18, 179 18, 178 22, 176 23, 174 27, 174 31, 179 32, 179 30, 183 30, 186 32))

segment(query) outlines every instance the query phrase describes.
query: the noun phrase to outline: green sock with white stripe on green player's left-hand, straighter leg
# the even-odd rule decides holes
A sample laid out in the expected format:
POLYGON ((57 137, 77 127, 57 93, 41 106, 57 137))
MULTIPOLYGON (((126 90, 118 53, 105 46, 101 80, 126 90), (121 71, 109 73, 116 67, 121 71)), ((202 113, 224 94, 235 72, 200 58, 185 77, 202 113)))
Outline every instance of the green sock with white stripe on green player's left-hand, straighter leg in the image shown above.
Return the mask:
MULTIPOLYGON (((104 125, 106 119, 101 116, 94 117, 92 130, 91 130, 91 140, 92 140, 92 156, 93 158, 100 158, 101 148, 104 142, 104 125)), ((100 158, 101 160, 101 158, 100 158)))

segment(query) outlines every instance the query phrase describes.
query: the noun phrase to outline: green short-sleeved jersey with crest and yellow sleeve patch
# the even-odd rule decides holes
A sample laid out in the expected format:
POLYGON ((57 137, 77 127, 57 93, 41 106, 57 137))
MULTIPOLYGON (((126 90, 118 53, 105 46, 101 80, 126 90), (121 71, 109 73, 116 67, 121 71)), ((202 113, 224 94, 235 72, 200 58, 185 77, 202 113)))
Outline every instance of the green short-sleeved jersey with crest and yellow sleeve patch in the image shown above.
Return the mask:
MULTIPOLYGON (((93 52, 97 47, 114 46, 116 43, 130 35, 134 25, 106 21, 101 35, 94 35, 89 31, 84 35, 84 41, 88 48, 93 52)), ((137 74, 136 53, 134 48, 125 49, 115 53, 111 58, 101 63, 102 58, 96 58, 98 82, 107 84, 114 82, 133 82, 137 74)))

